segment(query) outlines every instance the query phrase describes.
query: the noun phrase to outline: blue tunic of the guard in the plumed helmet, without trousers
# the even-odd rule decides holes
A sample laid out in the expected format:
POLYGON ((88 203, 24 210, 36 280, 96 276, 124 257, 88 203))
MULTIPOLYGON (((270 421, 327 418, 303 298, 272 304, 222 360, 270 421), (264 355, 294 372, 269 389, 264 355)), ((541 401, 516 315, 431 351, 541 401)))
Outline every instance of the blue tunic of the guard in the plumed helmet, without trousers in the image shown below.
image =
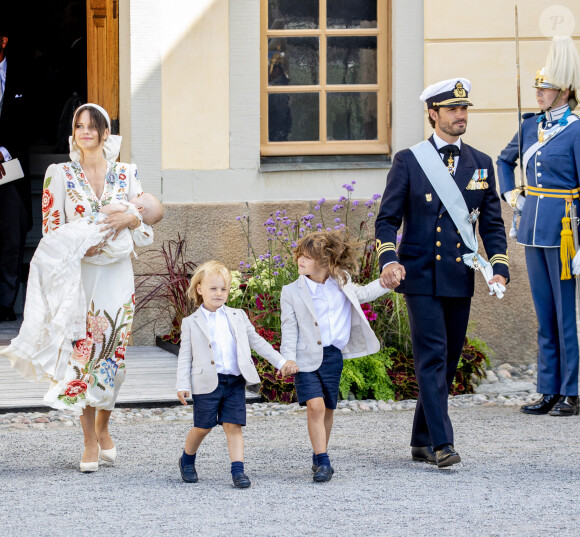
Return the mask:
MULTIPOLYGON (((538 141, 538 114, 524 114, 522 122, 522 156, 538 141)), ((500 192, 515 188, 514 168, 519 156, 518 135, 497 159, 500 192)), ((529 187, 548 190, 573 190, 580 186, 580 121, 541 147, 530 158, 525 170, 529 187)), ((537 192, 540 192, 538 190, 537 192)), ((575 200, 578 206, 578 200, 575 200)), ((562 218, 566 202, 562 197, 550 197, 550 192, 539 196, 527 195, 520 219, 518 242, 526 246, 555 248, 560 246, 562 218)))

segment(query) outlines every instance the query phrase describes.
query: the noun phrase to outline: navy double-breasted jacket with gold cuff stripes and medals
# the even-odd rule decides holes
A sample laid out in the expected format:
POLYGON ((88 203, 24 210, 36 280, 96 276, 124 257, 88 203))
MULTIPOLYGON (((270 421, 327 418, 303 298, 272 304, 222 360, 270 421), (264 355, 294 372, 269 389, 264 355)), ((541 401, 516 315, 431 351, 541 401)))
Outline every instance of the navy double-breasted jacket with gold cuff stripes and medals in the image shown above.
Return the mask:
MULTIPOLYGON (((429 138, 433 143, 433 137, 429 138)), ((493 273, 509 279, 507 241, 491 158, 466 143, 455 181, 469 212, 479 209, 478 228, 493 273), (486 178, 483 178, 487 176, 486 178)), ((474 273, 463 262, 469 248, 410 149, 399 151, 375 224, 379 263, 398 261, 406 276, 399 293, 438 297, 471 297, 474 273), (403 222, 401 243, 397 231, 403 222)))

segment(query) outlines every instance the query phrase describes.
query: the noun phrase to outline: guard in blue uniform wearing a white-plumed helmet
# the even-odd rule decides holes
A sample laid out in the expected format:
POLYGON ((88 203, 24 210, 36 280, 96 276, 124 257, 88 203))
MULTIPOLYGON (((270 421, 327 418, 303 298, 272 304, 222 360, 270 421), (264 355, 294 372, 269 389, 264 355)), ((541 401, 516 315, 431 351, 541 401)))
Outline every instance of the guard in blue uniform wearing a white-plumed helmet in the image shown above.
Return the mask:
POLYGON ((569 210, 571 203, 578 205, 580 186, 580 121, 572 114, 580 58, 569 37, 554 38, 533 87, 541 111, 523 115, 521 136, 516 134, 497 160, 502 196, 521 211, 517 241, 526 247, 538 318, 537 389, 542 398, 521 411, 573 416, 579 411, 578 335, 569 210), (518 158, 525 170, 525 197, 515 184, 518 158))

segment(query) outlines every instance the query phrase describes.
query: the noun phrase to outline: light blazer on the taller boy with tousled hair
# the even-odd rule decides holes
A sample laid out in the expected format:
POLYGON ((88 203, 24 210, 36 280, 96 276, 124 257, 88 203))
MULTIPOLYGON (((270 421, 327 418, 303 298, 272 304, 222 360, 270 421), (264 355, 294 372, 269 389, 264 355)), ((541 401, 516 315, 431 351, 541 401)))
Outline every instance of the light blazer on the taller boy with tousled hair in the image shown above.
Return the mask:
MULTIPOLYGON (((361 304, 372 302, 388 293, 390 289, 381 287, 379 280, 358 286, 348 281, 342 291, 351 303, 350 339, 342 350, 344 358, 368 356, 380 350, 380 343, 373 332, 361 304)), ((320 328, 312 295, 306 283, 306 276, 282 288, 281 321, 282 345, 280 352, 287 360, 295 360, 299 371, 316 371, 322 363, 323 347, 320 328)))

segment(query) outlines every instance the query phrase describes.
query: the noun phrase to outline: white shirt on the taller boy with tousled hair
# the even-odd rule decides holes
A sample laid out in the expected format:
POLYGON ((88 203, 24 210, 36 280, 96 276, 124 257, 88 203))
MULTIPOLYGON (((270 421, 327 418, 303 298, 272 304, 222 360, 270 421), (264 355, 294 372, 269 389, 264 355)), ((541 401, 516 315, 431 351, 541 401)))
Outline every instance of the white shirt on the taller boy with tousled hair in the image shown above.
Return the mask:
POLYGON ((316 283, 307 276, 306 283, 312 295, 322 345, 344 349, 350 339, 351 326, 351 307, 346 295, 330 276, 324 283, 316 283))

